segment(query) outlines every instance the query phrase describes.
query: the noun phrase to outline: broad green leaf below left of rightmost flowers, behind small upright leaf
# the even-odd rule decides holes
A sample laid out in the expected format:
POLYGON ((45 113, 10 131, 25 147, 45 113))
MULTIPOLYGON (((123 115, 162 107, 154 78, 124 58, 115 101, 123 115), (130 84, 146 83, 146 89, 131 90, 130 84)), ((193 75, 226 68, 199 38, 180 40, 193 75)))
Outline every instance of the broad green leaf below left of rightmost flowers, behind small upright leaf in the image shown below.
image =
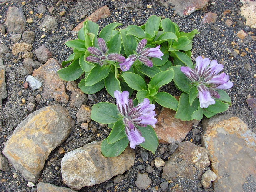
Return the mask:
POLYGON ((198 99, 195 99, 192 103, 192 106, 190 106, 188 101, 188 94, 182 93, 179 99, 178 109, 174 117, 177 119, 181 119, 182 121, 190 121, 193 119, 192 114, 194 113, 194 111, 198 110, 198 106, 198 99))

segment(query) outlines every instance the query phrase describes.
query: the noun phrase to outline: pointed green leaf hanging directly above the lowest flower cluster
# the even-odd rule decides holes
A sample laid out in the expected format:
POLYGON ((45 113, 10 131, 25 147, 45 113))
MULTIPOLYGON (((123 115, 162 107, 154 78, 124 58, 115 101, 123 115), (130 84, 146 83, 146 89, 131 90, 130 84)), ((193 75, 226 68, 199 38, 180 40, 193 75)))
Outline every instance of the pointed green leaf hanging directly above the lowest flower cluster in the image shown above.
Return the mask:
POLYGON ((105 87, 112 97, 114 97, 114 92, 116 90, 122 92, 120 81, 115 77, 115 74, 112 70, 109 71, 108 77, 105 78, 105 87))

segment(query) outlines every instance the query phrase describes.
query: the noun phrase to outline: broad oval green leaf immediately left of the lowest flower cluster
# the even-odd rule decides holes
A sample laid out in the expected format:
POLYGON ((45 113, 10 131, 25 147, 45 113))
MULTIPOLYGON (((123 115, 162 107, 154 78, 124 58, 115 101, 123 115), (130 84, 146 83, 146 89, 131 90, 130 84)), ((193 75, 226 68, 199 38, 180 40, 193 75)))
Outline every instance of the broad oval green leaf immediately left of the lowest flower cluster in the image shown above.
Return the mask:
POLYGON ((98 123, 115 123, 120 119, 118 114, 117 106, 112 103, 101 102, 91 107, 91 119, 98 123))

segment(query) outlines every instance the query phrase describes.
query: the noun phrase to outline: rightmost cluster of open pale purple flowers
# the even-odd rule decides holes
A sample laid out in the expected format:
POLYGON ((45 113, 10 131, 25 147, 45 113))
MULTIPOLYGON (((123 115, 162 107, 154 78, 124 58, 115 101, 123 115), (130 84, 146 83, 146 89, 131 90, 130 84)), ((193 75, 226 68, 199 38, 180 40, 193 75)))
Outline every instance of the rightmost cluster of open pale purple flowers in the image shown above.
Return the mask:
POLYGON ((191 84, 197 87, 200 107, 207 108, 215 103, 213 98, 220 98, 216 89, 230 89, 233 83, 229 80, 226 73, 221 73, 222 64, 218 64, 216 60, 210 62, 209 58, 196 58, 194 69, 189 67, 181 67, 181 71, 188 77, 191 84), (213 97, 213 98, 212 98, 213 97))

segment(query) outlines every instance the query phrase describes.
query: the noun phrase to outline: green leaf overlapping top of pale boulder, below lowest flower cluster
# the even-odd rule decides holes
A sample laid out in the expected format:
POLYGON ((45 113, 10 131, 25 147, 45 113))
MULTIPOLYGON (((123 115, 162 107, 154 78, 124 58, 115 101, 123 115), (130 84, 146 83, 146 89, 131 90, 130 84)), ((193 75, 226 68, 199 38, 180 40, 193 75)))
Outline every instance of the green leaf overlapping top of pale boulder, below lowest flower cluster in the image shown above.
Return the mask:
POLYGON ((127 147, 129 140, 124 137, 113 144, 108 144, 107 138, 101 143, 101 153, 105 157, 116 157, 120 155, 127 147))

